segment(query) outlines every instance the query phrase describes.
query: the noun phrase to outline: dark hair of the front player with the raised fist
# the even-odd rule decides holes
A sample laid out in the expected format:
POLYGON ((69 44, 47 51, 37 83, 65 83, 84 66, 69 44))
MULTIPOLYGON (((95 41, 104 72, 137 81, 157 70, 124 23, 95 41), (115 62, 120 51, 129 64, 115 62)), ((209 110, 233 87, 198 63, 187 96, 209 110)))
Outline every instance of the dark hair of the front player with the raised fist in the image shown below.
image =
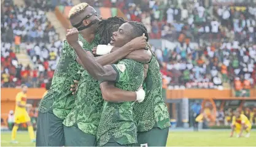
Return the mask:
POLYGON ((145 37, 147 37, 146 41, 149 41, 149 34, 147 33, 147 28, 145 26, 138 22, 138 21, 128 21, 128 23, 133 26, 133 30, 131 34, 133 34, 134 38, 142 36, 142 34, 145 34, 145 37))

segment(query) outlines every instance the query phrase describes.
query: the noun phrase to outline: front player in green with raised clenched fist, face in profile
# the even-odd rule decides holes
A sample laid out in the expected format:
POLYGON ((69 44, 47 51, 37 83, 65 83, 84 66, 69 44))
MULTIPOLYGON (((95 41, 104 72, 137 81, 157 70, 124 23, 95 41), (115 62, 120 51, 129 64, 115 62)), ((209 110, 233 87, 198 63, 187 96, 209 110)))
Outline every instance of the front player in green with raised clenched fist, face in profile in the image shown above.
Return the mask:
MULTIPOLYGON (((131 39, 142 36, 143 33, 147 34, 147 31, 138 31, 130 23, 124 23, 118 31, 113 33, 116 36, 112 37, 111 43, 114 47, 123 47, 131 39)), ((117 88, 127 91, 139 89, 144 81, 144 64, 131 59, 122 59, 118 64, 101 66, 94 58, 83 53, 82 47, 77 43, 77 34, 77 29, 69 30, 67 40, 76 50, 83 66, 92 77, 99 81, 116 81, 117 88)), ((104 102, 97 133, 99 146, 123 146, 137 143, 133 103, 104 102)))

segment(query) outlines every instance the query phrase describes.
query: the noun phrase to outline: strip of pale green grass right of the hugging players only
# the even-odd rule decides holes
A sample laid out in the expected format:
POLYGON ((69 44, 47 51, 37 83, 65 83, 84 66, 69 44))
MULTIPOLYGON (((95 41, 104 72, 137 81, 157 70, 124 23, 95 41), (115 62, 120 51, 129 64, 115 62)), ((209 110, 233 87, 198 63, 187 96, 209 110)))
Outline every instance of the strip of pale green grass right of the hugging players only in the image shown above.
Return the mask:
POLYGON ((256 132, 252 130, 250 138, 236 138, 235 134, 230 138, 229 130, 170 131, 167 146, 256 146, 256 132))

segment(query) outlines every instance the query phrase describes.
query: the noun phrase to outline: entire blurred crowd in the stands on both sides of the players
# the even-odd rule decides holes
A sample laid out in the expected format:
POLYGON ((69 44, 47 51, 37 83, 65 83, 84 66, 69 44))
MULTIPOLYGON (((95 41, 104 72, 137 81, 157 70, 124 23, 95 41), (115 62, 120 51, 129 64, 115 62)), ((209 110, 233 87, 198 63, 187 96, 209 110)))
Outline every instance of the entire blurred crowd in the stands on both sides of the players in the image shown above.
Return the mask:
MULTIPOLYGON (((68 0, 60 5, 72 6, 68 0)), ((81 0, 83 2, 83 0, 81 0)), ((86 0, 91 6, 118 7, 128 20, 142 21, 150 39, 166 39, 175 47, 154 47, 164 88, 235 88, 236 96, 256 83, 256 6, 213 6, 208 1, 86 0)), ((45 12, 47 1, 13 4, 1 11, 1 87, 23 83, 45 87, 60 58, 62 40, 45 12), (16 55, 28 53, 34 68, 16 55)))

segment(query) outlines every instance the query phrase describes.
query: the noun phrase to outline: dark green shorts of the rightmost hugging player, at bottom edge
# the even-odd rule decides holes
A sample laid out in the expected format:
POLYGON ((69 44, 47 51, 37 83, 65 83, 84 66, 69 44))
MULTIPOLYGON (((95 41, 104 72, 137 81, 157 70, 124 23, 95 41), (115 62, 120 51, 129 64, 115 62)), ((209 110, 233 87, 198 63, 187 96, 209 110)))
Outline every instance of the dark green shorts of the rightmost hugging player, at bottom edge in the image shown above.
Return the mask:
POLYGON ((147 132, 138 132, 138 143, 136 146, 166 146, 169 127, 160 129, 159 127, 153 127, 147 132))

